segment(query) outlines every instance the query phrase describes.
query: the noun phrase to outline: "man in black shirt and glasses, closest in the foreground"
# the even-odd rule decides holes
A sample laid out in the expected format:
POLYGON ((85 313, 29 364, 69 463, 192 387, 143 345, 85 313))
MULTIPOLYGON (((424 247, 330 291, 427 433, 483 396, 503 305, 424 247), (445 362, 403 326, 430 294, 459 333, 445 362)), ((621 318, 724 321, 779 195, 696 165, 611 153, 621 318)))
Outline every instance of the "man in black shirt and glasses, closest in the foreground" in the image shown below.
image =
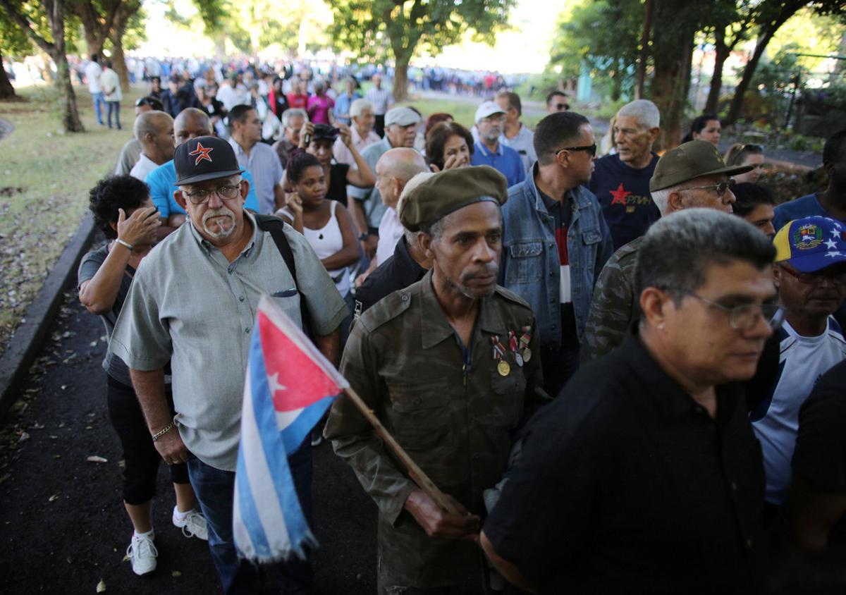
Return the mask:
POLYGON ((530 421, 481 543, 536 592, 741 593, 761 566, 764 470, 742 391, 775 294, 764 234, 690 209, 655 223, 643 317, 530 421))

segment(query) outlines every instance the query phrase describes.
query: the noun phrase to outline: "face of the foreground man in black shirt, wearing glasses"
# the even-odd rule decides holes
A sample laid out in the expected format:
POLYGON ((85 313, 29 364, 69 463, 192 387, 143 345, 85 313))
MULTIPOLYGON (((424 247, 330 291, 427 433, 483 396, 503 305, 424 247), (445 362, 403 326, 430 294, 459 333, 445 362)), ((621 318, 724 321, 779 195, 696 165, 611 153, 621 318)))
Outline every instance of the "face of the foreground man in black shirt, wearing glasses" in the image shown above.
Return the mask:
POLYGON ((711 264, 705 283, 693 294, 678 297, 678 304, 667 298, 662 327, 656 329, 665 335, 667 353, 661 356, 700 386, 748 380, 772 329, 762 316, 750 328, 733 328, 725 308, 771 300, 772 267, 761 271, 744 261, 711 264))

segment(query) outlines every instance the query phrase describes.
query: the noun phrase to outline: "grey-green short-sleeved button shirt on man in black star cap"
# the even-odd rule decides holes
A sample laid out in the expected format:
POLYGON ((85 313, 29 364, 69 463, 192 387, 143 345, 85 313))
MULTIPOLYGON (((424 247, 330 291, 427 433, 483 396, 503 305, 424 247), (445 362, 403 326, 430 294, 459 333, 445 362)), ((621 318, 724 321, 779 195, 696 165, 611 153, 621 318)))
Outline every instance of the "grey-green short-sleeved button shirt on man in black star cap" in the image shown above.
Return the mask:
MULTIPOLYGON (((109 350, 135 370, 173 369, 173 404, 185 446, 207 465, 234 471, 244 371, 262 294, 300 323, 299 295, 272 237, 255 225, 244 251, 228 262, 190 221, 141 262, 109 350)), ((348 314, 332 278, 305 238, 285 234, 312 329, 325 335, 348 314)))

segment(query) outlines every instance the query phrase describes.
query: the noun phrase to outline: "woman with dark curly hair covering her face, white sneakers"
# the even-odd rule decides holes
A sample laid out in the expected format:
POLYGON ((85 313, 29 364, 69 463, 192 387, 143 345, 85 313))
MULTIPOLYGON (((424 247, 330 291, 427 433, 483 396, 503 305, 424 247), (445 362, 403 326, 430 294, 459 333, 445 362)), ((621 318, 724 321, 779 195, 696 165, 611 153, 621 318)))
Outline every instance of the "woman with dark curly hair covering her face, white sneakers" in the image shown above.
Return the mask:
MULTIPOLYGON (((152 250, 161 221, 147 185, 129 175, 100 180, 91 189, 89 199, 94 221, 107 242, 88 252, 80 262, 80 302, 91 314, 102 318, 111 338, 135 270, 152 250)), ((108 351, 102 366, 106 372, 109 418, 124 449, 124 507, 135 529, 126 554, 135 574, 145 575, 156 570, 158 552, 153 544, 155 533, 150 513, 162 457, 153 445, 141 413, 129 368, 108 351)), ((166 392, 173 413, 169 383, 166 392)), ((207 540, 206 519, 195 510, 187 466, 184 463, 171 466, 170 476, 176 492, 173 524, 182 528, 185 537, 207 540)))

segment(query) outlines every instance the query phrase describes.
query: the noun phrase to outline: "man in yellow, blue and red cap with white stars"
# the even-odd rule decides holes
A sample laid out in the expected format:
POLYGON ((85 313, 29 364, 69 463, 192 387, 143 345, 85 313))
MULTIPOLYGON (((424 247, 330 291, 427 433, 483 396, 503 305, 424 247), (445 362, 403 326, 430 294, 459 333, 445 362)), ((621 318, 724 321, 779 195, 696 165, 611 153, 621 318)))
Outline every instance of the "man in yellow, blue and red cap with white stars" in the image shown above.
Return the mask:
POLYGON ((846 339, 832 314, 846 299, 846 226, 826 217, 796 219, 779 229, 775 283, 785 321, 778 331, 777 378, 750 414, 766 470, 767 516, 790 488, 799 409, 817 379, 846 358, 846 339))

